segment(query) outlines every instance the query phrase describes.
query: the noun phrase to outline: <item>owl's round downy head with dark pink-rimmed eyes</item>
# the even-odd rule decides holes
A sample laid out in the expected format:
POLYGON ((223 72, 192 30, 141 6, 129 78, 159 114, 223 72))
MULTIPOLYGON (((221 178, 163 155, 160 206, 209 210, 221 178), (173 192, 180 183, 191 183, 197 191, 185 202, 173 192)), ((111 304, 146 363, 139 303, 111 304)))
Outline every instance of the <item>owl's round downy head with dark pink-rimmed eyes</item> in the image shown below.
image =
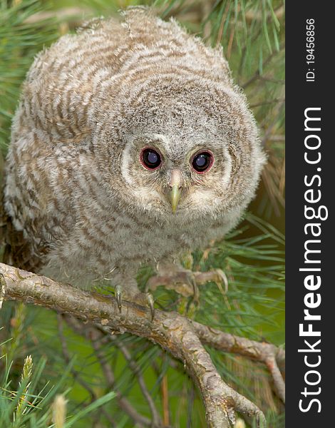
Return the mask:
POLYGON ((113 194, 129 209, 176 223, 224 216, 236 223, 264 163, 239 89, 191 77, 151 78, 120 93, 99 141, 113 194))

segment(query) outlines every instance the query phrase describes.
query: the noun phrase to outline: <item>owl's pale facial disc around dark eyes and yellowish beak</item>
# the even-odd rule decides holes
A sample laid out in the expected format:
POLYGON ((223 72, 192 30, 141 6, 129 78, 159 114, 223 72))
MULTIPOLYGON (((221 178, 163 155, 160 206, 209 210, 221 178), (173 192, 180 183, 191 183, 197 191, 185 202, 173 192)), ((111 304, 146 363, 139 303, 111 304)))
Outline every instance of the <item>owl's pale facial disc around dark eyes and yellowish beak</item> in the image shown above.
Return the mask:
POLYGON ((175 138, 151 131, 129 138, 121 166, 125 185, 135 189, 136 206, 176 221, 205 216, 213 189, 222 182, 220 167, 224 163, 225 175, 230 170, 229 156, 213 143, 214 136, 198 134, 175 138))

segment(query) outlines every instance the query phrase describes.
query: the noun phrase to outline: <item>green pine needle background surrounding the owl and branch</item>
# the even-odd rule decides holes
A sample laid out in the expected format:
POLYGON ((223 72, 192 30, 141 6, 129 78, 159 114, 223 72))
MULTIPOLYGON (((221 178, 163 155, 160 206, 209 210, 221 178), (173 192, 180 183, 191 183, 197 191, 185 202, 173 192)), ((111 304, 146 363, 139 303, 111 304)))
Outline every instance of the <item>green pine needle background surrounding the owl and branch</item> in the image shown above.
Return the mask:
MULTIPOLYGON (((227 290, 222 284, 203 285, 195 304, 190 297, 159 287, 156 305, 213 328, 284 346, 284 237, 278 231, 284 230, 282 0, 0 0, 1 151, 5 156, 11 118, 33 56, 83 20, 110 16, 133 4, 154 6, 165 19, 175 16, 207 44, 222 44, 234 80, 247 93, 269 156, 250 209, 254 214, 247 213, 224 241, 182 260, 193 270, 223 270, 227 290)), ((143 289, 150 275, 146 267, 138 272, 143 289)), ((103 285, 98 290, 111 292, 103 285)), ((13 302, 4 302, 1 326, 0 426, 134 427, 117 397, 122 395, 136 412, 151 419, 145 384, 170 427, 205 427, 200 395, 182 363, 147 340, 115 335, 100 343, 97 352, 96 342, 59 325, 53 312, 13 302), (101 355, 113 384, 106 378, 101 355), (63 410, 61 404, 57 410, 62 403, 56 399, 59 394, 63 410)), ((267 370, 242 357, 207 350, 225 381, 262 407, 269 427, 284 427, 283 407, 267 370)))

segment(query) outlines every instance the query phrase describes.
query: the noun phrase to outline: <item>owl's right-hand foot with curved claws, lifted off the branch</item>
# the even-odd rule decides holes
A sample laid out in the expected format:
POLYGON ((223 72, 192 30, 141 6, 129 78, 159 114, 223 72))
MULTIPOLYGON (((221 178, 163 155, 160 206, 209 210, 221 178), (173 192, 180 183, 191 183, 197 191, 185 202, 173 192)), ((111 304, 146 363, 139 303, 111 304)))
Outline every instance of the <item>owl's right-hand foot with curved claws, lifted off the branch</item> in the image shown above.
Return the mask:
POLYGON ((166 268, 158 272, 158 275, 150 277, 147 283, 147 290, 156 290, 159 285, 164 285, 168 290, 175 290, 184 297, 193 296, 195 302, 199 300, 198 285, 206 282, 215 282, 218 287, 225 286, 225 292, 228 287, 228 280, 225 272, 221 269, 210 270, 208 272, 192 272, 181 266, 172 265, 170 271, 166 268))

